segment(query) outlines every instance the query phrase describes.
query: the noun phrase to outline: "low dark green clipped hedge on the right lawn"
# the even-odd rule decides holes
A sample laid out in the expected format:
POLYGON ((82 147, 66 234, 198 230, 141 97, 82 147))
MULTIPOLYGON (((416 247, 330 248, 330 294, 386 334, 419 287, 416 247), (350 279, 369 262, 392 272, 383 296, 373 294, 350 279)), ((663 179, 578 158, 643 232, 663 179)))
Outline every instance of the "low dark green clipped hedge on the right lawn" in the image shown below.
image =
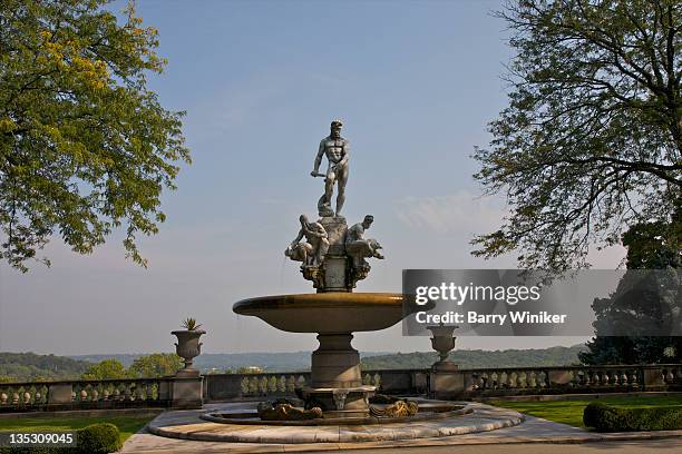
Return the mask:
POLYGON ((585 407, 583 423, 598 432, 673 431, 682 428, 682 406, 618 408, 594 402, 585 407))

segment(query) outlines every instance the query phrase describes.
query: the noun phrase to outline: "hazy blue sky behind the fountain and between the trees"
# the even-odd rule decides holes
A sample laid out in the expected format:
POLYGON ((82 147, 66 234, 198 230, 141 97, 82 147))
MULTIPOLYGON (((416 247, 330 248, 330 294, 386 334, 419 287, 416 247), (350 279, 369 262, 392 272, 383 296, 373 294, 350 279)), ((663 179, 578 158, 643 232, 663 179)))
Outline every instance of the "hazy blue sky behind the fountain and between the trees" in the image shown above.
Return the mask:
MULTIPOLYGON (((187 316, 204 323, 206 352, 314 348, 314 335, 235 316, 241 298, 310 292, 283 259, 298 216, 315 215, 322 180, 309 176, 329 122, 352 144, 345 216, 373 214, 384 246, 359 285, 399 292, 402 268, 515 267, 470 256, 472 235, 496 228, 504 200, 481 198, 474 146, 504 108, 512 58, 498 1, 139 0, 159 30, 164 75, 149 86, 186 110, 193 165, 164 195, 168 216, 145 239, 149 268, 124 259, 120 235, 91 256, 58 238, 52 268, 0 265, 0 351, 57 354, 169 351, 187 316)), ((119 10, 123 3, 111 8, 119 10)), ((595 256, 614 268, 621 250, 595 256)), ((464 347, 576 339, 465 338, 464 347)), ((426 351, 400 327, 359 334, 359 349, 426 351)))

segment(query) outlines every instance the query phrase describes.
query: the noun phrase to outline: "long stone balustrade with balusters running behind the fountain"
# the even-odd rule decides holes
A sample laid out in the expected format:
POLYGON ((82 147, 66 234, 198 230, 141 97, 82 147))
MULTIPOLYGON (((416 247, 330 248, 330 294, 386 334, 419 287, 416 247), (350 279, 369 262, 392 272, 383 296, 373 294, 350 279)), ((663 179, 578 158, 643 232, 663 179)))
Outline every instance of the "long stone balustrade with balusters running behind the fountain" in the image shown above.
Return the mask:
MULTIPOLYGON (((208 374, 198 378, 135 378, 0 384, 0 413, 57 409, 187 407, 203 402, 294 396, 310 372, 208 374), (189 389, 191 388, 191 389, 189 389), (202 392, 203 396, 196 395, 202 392)), ((479 398, 571 393, 682 392, 682 364, 363 371, 379 393, 479 398), (445 378, 445 379, 444 379, 445 378)))

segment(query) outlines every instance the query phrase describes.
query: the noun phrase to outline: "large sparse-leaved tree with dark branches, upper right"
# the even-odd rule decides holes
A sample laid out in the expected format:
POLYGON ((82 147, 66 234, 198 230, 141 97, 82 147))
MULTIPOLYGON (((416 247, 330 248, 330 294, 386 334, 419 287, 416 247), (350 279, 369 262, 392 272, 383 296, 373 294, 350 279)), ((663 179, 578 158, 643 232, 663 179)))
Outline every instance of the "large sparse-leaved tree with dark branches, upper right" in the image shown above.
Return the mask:
POLYGON ((523 267, 561 272, 634 225, 670 225, 682 206, 682 3, 515 0, 498 14, 517 55, 475 177, 512 209, 474 254, 518 250, 523 267))

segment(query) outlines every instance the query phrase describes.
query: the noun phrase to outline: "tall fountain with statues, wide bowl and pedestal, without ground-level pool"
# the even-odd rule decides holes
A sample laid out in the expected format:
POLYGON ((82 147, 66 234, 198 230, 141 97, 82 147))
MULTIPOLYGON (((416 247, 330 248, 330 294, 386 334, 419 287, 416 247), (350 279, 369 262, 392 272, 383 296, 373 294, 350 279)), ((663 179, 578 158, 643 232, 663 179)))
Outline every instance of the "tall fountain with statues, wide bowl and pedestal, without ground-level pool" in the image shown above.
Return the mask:
POLYGON ((316 333, 319 348, 311 359, 311 384, 301 389, 305 407, 320 407, 324 417, 364 417, 374 386, 362 385, 360 355, 351 346, 353 333, 384 329, 400 322, 402 295, 353 293, 371 269, 368 258, 382 259, 381 245, 366 238, 374 218, 348 226, 341 216, 345 200, 350 149, 340 135, 341 121, 331 124, 331 134, 322 139, 313 177, 324 178, 324 194, 318 203, 320 219, 310 221, 301 215, 298 236, 284 251, 301 261, 301 274, 313 283, 315 294, 280 295, 238 302, 233 310, 259 317, 290 333, 316 333), (329 166, 319 172, 322 157, 329 166), (337 209, 331 209, 334 185, 337 209))

